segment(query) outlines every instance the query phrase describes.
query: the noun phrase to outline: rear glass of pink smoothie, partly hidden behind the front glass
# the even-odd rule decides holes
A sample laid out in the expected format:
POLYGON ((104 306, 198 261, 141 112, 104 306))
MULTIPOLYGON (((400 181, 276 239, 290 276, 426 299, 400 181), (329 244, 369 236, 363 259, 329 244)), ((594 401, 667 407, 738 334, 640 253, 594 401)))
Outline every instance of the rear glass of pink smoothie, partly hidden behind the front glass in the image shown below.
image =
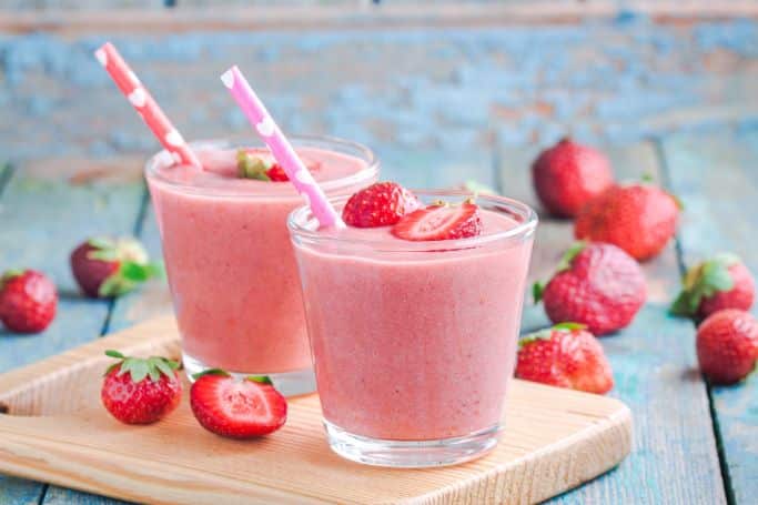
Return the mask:
MULTIPOLYGON (((329 196, 376 180, 354 142, 292 137, 329 196)), ((189 376, 206 368, 269 375, 286 395, 315 390, 287 214, 303 200, 262 143, 190 144, 203 169, 166 151, 145 176, 155 210, 189 376)))

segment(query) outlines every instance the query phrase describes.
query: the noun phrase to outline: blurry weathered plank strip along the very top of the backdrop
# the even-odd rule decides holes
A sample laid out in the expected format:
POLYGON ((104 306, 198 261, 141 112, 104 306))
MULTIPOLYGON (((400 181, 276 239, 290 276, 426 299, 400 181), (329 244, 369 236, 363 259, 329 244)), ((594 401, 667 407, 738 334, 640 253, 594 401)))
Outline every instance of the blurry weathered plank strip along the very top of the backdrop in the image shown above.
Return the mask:
MULTIPOLYGON (((628 8, 628 6, 625 6, 628 8)), ((660 22, 691 22, 701 18, 756 17, 758 6, 748 0, 712 2, 637 1, 633 9, 660 22)), ((0 11, 0 30, 11 33, 152 32, 155 30, 281 30, 372 29, 415 27, 491 27, 518 23, 578 23, 585 19, 613 18, 613 0, 588 3, 535 2, 446 3, 434 8, 414 3, 383 6, 266 6, 224 9, 87 9, 0 11)))

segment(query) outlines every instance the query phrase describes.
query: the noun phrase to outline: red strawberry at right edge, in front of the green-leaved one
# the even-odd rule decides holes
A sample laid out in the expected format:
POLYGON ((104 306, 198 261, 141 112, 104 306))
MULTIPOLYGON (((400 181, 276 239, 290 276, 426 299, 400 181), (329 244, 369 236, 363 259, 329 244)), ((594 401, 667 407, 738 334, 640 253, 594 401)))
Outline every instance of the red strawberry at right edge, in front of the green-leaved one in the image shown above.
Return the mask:
POLYGON ((734 384, 747 377, 758 360, 758 321, 737 309, 718 311, 697 330, 700 371, 714 384, 734 384))

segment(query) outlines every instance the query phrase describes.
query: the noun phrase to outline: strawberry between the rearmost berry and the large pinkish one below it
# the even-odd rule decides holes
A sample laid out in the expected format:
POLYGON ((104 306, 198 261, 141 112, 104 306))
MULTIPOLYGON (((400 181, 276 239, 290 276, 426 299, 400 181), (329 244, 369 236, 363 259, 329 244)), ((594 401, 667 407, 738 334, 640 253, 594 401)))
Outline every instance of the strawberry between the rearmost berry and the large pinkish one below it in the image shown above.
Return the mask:
POLYGON ((676 198, 650 184, 614 185, 582 208, 574 235, 618 245, 645 261, 674 236, 679 209, 676 198))

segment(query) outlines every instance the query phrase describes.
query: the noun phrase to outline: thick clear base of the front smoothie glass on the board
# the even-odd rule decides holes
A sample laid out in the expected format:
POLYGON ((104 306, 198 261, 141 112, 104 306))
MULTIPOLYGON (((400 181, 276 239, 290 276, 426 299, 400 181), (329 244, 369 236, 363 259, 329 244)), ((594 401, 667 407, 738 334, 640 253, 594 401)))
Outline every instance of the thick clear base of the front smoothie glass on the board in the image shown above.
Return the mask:
POLYGON ((476 459, 497 445, 499 426, 432 441, 387 441, 354 435, 324 420, 329 445, 340 456, 374 466, 424 468, 476 459))

